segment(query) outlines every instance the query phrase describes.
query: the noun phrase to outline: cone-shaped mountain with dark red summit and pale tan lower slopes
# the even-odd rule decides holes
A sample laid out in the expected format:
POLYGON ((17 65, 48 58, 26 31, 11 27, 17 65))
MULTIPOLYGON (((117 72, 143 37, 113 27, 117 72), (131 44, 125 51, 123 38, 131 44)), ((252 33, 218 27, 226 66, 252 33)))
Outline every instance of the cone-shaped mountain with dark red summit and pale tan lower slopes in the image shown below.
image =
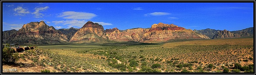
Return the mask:
POLYGON ((69 42, 103 43, 107 42, 107 38, 102 25, 88 21, 75 32, 69 42))

